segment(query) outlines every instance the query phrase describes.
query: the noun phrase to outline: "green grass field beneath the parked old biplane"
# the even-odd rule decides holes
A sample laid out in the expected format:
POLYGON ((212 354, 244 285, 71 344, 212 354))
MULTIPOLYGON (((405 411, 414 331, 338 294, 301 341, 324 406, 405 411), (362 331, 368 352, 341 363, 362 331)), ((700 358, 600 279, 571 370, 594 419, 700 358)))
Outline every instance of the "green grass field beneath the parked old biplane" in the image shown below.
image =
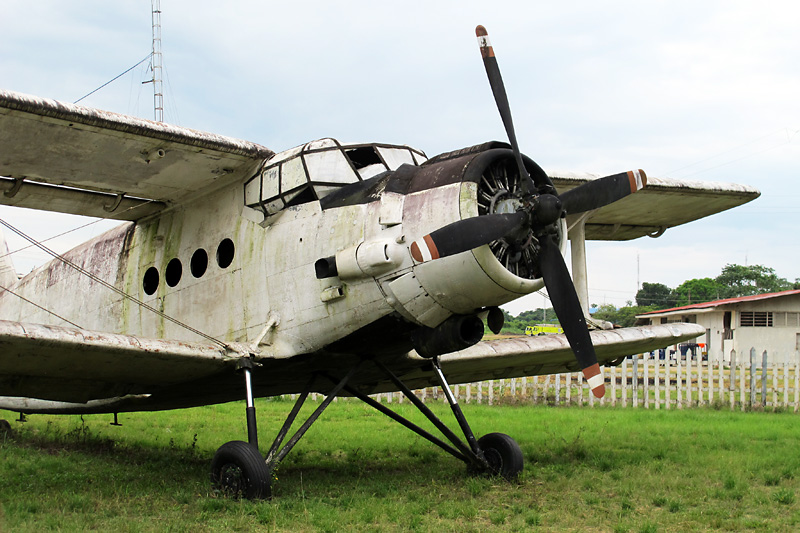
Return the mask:
MULTIPOLYGON (((259 400, 262 446, 291 407, 259 400)), ((408 404, 394 405, 416 418, 408 404)), ((447 408, 435 405, 443 417, 447 408)), ((208 464, 245 435, 229 404, 120 416, 0 411, 0 531, 690 531, 800 528, 800 418, 711 409, 465 406, 519 442, 521 479, 465 467, 355 401, 276 472, 275 498, 215 498, 208 464)), ((449 420, 449 419, 448 419, 449 420)))

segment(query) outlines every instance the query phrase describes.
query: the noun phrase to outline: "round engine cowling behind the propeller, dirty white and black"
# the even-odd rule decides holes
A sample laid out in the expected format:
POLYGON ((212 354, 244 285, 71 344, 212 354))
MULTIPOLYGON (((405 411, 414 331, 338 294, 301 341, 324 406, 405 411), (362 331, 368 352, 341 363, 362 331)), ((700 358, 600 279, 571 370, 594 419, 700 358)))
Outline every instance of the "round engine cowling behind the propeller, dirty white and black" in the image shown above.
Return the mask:
MULTIPOLYGON (((524 161, 528 172, 543 173, 529 158, 524 161)), ((515 212, 521 186, 513 152, 502 143, 437 156, 405 180, 407 244, 457 220, 515 212)), ((564 253, 563 220, 558 231, 564 253)), ((513 245, 498 239, 436 261, 415 261, 410 272, 382 283, 387 300, 407 319, 435 328, 451 315, 475 314, 539 290, 544 283, 533 239, 517 235, 513 245)))

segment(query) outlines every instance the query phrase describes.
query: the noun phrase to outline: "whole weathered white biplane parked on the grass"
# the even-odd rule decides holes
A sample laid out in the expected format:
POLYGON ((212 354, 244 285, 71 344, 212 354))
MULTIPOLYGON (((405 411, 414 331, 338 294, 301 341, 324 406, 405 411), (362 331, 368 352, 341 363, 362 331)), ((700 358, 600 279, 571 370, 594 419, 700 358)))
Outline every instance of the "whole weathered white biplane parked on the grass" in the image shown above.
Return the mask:
MULTIPOLYGON (((435 157, 325 138, 258 144, 0 91, 0 203, 119 220, 24 277, 0 247, 0 408, 122 413, 244 400, 214 487, 271 495, 271 472, 340 395, 466 463, 515 477, 520 447, 478 438, 450 384, 582 370, 704 334, 587 324, 586 239, 657 236, 756 198, 739 185, 548 175, 523 155, 488 36, 509 142, 435 157), (678 208, 680 206, 680 208, 678 208), (575 282, 564 256, 572 241, 575 282), (545 287, 564 334, 484 341, 499 306, 545 287), (441 386, 458 431, 413 393, 441 386), (402 391, 441 436, 371 395, 402 391), (269 447, 254 398, 297 394, 269 447), (311 393, 325 395, 299 424, 311 393)), ((42 243, 0 220, 32 245, 42 243)))

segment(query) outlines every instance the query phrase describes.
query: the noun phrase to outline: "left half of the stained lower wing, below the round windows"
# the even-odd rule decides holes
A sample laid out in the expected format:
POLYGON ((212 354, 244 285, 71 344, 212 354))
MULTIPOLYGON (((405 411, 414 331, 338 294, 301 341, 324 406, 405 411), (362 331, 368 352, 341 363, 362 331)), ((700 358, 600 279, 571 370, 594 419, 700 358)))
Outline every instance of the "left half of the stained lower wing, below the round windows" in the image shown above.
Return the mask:
POLYGON ((0 321, 0 395, 86 402, 144 394, 232 369, 241 356, 210 343, 0 321))

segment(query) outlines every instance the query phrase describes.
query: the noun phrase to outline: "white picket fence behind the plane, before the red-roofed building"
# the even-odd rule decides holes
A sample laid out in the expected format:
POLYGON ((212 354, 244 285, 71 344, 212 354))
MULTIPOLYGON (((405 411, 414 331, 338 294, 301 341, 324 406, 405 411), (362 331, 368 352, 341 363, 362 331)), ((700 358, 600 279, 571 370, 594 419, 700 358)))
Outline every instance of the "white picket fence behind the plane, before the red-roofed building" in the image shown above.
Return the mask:
MULTIPOLYGON (((462 403, 612 405, 643 409, 685 409, 713 406, 731 410, 800 409, 800 353, 794 361, 770 362, 767 352, 731 353, 731 361, 653 358, 642 354, 616 367, 603 367, 606 395, 592 395, 580 372, 490 380, 453 386, 462 403)), ((427 401, 445 401, 438 388, 415 391, 427 401)), ((408 401, 402 393, 376 395, 381 402, 408 401)))

